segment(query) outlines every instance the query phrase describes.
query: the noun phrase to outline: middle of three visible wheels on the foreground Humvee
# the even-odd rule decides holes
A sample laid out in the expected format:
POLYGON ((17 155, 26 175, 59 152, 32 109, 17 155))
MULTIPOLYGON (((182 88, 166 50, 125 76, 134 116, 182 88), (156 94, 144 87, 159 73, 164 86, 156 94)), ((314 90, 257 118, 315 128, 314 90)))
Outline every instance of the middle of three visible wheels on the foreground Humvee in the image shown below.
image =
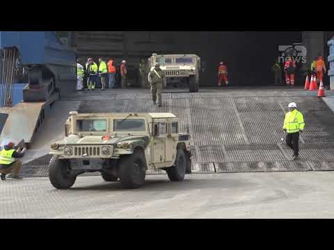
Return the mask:
POLYGON ((139 188, 145 183, 146 160, 141 150, 122 156, 119 163, 120 183, 123 188, 139 188))

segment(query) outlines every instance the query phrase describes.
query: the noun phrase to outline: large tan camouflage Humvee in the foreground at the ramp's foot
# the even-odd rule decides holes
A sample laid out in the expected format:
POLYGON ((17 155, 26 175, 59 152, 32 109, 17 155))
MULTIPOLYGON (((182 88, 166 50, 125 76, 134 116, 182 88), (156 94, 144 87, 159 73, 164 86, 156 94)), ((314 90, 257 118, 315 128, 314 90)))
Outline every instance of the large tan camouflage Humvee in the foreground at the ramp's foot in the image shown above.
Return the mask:
POLYGON ((163 169, 170 181, 191 174, 189 133, 179 133, 171 113, 70 112, 65 138, 51 144, 49 180, 55 188, 72 187, 77 176, 101 172, 104 181, 138 188, 147 171, 163 169))

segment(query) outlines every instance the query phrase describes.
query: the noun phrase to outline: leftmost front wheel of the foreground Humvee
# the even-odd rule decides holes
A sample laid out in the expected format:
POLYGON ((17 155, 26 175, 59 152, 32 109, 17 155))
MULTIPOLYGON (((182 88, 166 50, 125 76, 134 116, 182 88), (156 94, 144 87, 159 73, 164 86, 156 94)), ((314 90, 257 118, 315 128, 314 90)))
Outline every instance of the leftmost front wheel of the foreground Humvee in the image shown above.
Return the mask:
POLYGON ((77 179, 76 175, 71 174, 70 161, 59 160, 58 156, 52 156, 49 163, 49 180, 54 188, 71 188, 77 179))

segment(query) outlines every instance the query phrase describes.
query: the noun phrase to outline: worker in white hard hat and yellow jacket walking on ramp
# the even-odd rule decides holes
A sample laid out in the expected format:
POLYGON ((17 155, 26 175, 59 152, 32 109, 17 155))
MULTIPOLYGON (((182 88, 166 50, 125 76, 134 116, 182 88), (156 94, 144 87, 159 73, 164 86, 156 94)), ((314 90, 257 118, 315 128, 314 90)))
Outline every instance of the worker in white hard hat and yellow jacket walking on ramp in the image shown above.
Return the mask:
POLYGON ((305 122, 303 114, 297 110, 296 103, 289 103, 288 108, 289 112, 285 114, 283 129, 287 133, 285 142, 294 151, 292 158, 296 160, 299 158, 299 132, 303 132, 305 122))

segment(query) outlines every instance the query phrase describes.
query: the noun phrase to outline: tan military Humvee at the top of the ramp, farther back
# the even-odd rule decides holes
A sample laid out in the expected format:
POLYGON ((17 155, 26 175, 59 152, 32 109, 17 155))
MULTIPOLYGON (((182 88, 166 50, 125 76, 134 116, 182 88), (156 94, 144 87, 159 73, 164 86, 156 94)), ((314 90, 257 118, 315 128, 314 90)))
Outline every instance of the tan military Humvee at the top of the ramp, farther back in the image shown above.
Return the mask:
MULTIPOLYGON (((200 58, 193 54, 186 55, 158 55, 152 54, 148 58, 148 67, 146 78, 148 77, 148 70, 152 70, 154 65, 159 63, 160 68, 166 74, 165 88, 168 83, 186 83, 189 85, 189 92, 198 92, 200 81, 200 58)), ((146 80, 146 84, 148 80, 146 80)), ((145 85, 146 85, 145 84, 145 85)))

